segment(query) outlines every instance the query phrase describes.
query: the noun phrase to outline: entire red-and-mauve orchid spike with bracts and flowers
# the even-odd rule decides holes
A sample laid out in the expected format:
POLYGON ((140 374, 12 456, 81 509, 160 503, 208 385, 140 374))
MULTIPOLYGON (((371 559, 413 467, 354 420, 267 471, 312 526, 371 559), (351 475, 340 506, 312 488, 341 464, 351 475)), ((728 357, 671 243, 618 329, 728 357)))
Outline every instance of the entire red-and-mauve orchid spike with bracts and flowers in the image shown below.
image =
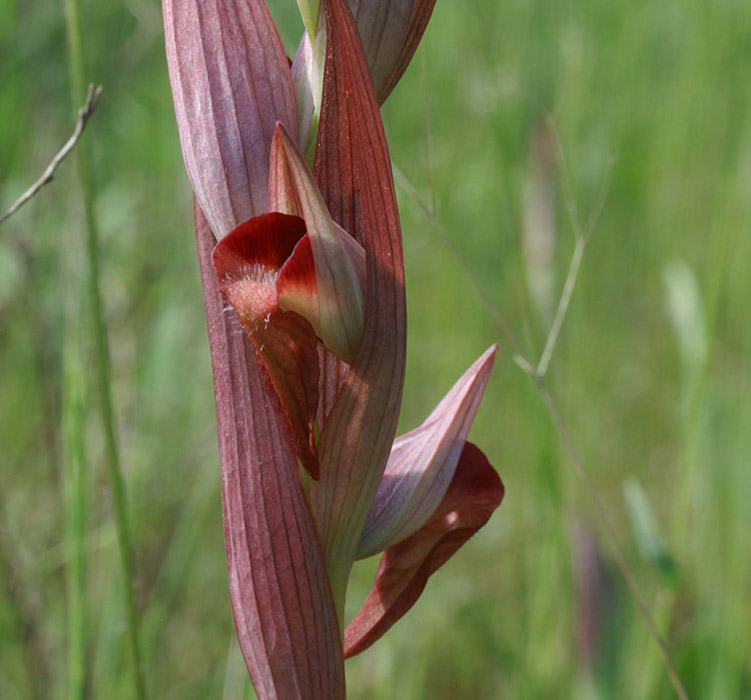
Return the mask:
POLYGON ((406 304, 379 104, 434 0, 351 4, 357 22, 344 0, 301 0, 296 69, 263 0, 163 2, 197 202, 230 595, 262 698, 343 697, 343 658, 404 615, 503 498, 466 441, 495 346, 394 439, 406 304), (342 644, 350 569, 378 552, 342 644))

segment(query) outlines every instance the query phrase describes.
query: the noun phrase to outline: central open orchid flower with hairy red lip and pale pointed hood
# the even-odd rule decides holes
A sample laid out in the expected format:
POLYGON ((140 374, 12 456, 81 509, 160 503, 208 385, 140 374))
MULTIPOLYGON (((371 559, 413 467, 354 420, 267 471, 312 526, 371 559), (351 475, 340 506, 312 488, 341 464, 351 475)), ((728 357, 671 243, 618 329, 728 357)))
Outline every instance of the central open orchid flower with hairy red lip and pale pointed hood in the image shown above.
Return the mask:
POLYGON ((268 209, 214 249, 219 288, 277 394, 282 428, 318 478, 318 348, 351 363, 363 331, 365 251, 337 226, 302 154, 277 124, 268 209))

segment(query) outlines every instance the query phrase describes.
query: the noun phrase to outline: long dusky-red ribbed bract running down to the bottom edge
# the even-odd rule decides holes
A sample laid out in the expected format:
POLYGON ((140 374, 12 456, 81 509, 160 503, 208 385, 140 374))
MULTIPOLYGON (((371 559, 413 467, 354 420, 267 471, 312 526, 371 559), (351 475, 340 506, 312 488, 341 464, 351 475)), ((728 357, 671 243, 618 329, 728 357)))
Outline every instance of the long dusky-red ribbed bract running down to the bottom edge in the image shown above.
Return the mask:
POLYGON ((224 309, 211 264, 215 241, 198 207, 196 235, 240 647, 259 697, 343 699, 341 639, 318 537, 255 350, 224 309))

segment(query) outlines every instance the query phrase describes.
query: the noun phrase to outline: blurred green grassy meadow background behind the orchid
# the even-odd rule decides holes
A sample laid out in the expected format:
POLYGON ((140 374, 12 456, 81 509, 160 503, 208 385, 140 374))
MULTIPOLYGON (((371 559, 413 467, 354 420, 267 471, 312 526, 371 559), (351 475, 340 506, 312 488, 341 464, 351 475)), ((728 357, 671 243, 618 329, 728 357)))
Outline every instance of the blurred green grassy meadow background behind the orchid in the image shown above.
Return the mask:
MULTIPOLYGON (((270 2, 290 53, 293 0, 270 2)), ((82 0, 113 395, 155 698, 250 697, 234 642, 202 297, 156 0, 82 0)), ((0 209, 72 130, 63 4, 0 0, 0 209)), ((669 698, 586 488, 476 284, 537 360, 601 216, 551 392, 694 698, 751 697, 751 4, 439 0, 384 108, 409 303, 402 429, 500 341, 471 438, 507 488, 352 698, 669 698), (565 168, 564 168, 565 163, 565 168), (607 180, 611 178, 607 188, 607 180), (566 184, 568 182, 568 186, 566 184)), ((77 108, 78 105, 75 105, 77 108)), ((75 158, 0 227, 0 696, 66 687, 61 368, 85 271, 75 158), (71 309, 74 311, 71 312, 71 309)), ((88 347, 88 346, 87 346, 88 347)), ((84 357, 86 377, 90 348, 84 357)), ((85 400, 88 681, 133 697, 85 400)), ((355 571, 357 609, 376 562, 355 571)))

